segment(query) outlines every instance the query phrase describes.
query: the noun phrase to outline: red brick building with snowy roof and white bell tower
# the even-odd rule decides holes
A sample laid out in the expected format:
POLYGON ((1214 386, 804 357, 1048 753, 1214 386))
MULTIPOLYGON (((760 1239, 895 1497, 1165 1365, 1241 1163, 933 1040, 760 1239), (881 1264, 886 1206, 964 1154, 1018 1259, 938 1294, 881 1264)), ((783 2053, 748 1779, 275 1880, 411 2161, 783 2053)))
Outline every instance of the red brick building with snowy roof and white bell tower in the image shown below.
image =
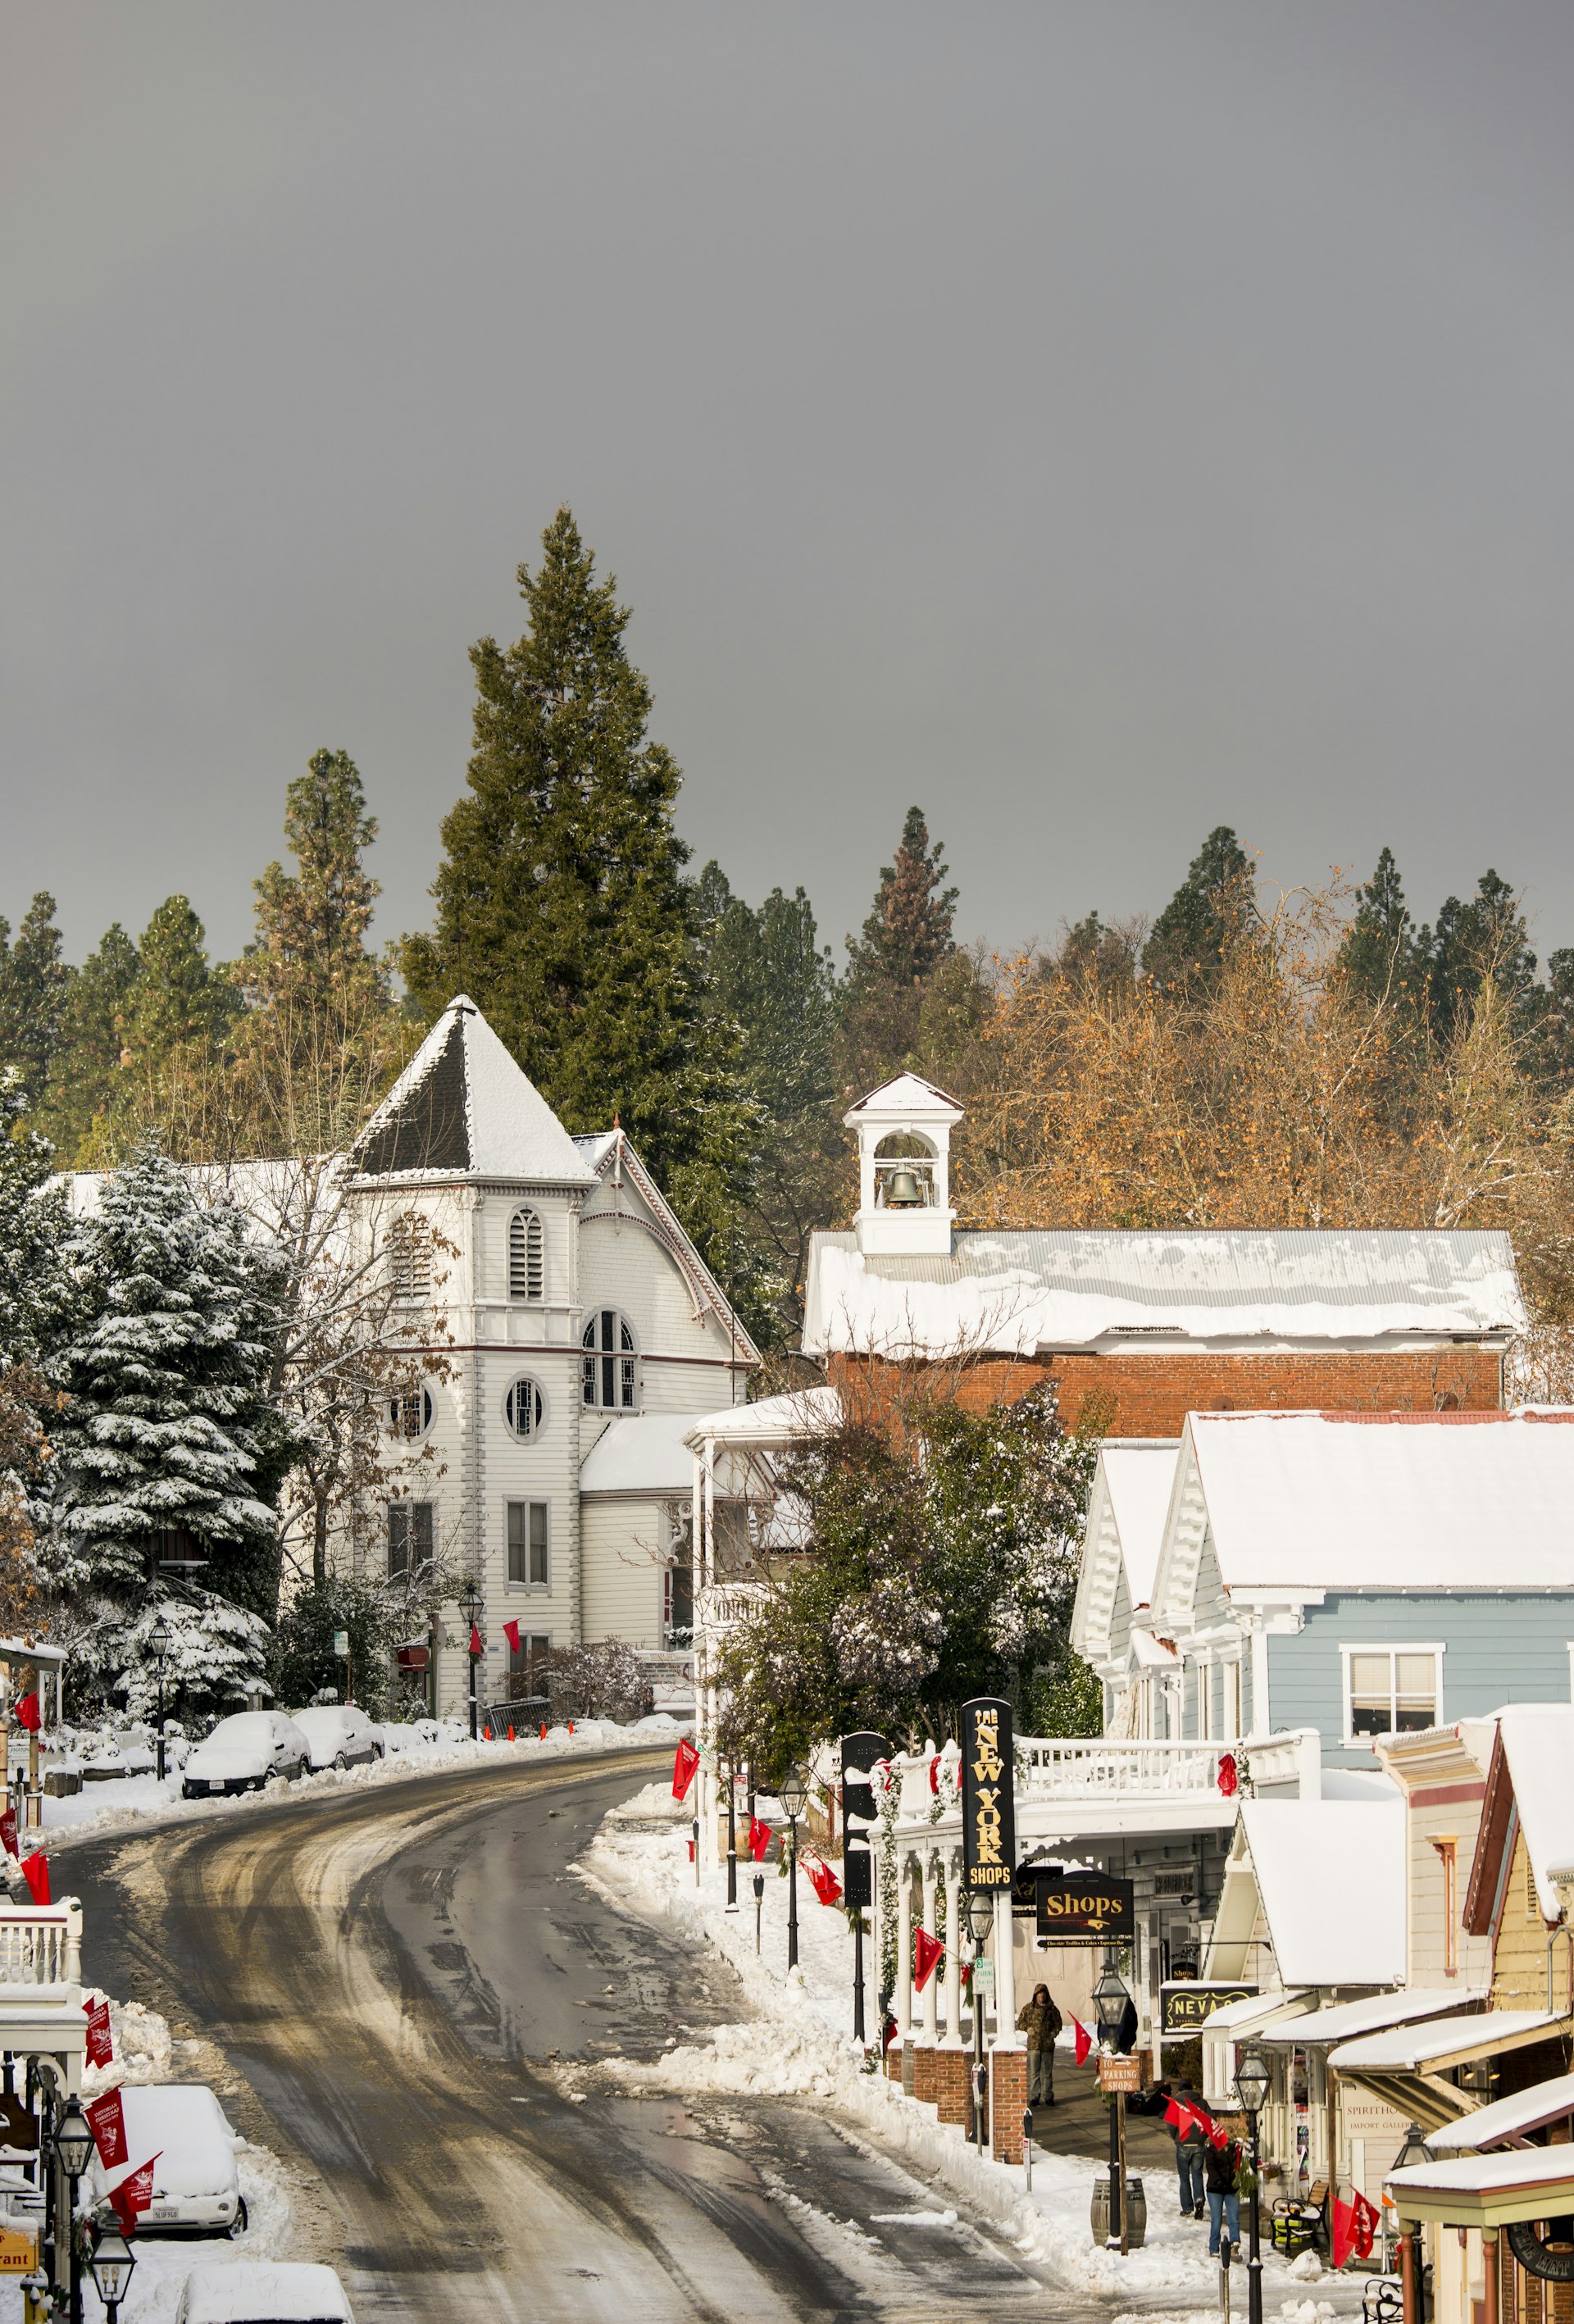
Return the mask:
POLYGON ((809 1250, 804 1353, 949 1367, 967 1404, 1060 1383, 1114 1436, 1190 1411, 1497 1411, 1523 1304, 1507 1234, 1381 1229, 958 1229, 963 1109, 902 1074, 846 1116, 851 1232, 809 1250))

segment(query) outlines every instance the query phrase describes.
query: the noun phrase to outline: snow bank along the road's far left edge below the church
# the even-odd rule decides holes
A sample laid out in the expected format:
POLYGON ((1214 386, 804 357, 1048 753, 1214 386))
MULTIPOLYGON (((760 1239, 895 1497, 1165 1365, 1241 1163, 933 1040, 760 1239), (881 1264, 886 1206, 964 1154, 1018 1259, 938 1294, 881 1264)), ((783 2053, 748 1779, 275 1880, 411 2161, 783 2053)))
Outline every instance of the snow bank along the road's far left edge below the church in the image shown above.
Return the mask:
POLYGON ((86 1831, 123 1831, 149 1817, 167 1822, 170 1817, 232 1815, 237 1808, 256 1808, 258 1801, 279 1808, 321 1792, 372 1789, 384 1783, 405 1783, 409 1776, 439 1776, 458 1766, 498 1766, 509 1759, 572 1759, 584 1752, 604 1750, 651 1750, 658 1743, 677 1743, 679 1734, 686 1734, 686 1729, 660 1710, 649 1720, 637 1720, 632 1727, 614 1727, 611 1720, 574 1720, 574 1734, 567 1727, 551 1727, 546 1738, 530 1734, 516 1743, 472 1743, 458 1720, 446 1720, 435 1741, 423 1741, 414 1727, 405 1727, 395 1729, 398 1750, 391 1750, 386 1759, 346 1769, 325 1766, 314 1776, 300 1776, 295 1783, 274 1776, 260 1794, 235 1792, 221 1799, 181 1799, 181 1776, 177 1769, 170 1769, 163 1783, 156 1776, 137 1773, 121 1776, 116 1783, 84 1785, 81 1792, 72 1792, 67 1799, 44 1799, 44 1841, 49 1843, 51 1834, 77 1838, 77 1834, 86 1831))

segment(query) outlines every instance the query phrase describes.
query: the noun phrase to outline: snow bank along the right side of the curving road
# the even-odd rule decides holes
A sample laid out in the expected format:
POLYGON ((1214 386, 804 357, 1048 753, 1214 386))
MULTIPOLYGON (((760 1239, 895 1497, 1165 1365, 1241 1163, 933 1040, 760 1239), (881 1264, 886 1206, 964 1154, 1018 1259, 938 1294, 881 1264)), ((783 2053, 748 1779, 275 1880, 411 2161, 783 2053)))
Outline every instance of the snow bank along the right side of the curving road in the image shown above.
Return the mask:
MULTIPOLYGON (((784 1829, 772 1803, 760 1817, 784 1829)), ((935 2217, 932 2182, 963 2196, 1016 2243, 1023 2259, 1049 2268, 1067 2294, 1111 2301, 1132 2298, 1144 2317, 1193 2315, 1218 2308, 1218 2264, 1207 2257, 1202 2231, 1172 2217, 1169 2182, 1151 2189, 1146 2243, 1139 2252, 1107 2252, 1090 2240, 1088 2201, 1102 2157, 1042 2154, 1032 2159, 1032 2192, 1021 2166, 979 2157, 963 2131, 935 2119, 930 2106, 907 2099, 881 2073, 865 2071, 865 2047, 853 2040, 853 1936, 839 1908, 821 1906, 800 1864, 797 1968, 786 1968, 788 1880, 777 1864, 756 1866, 749 1855, 737 1866, 737 1910, 725 1908, 725 1864, 702 1871, 688 1862, 691 1808, 672 1799, 670 1783, 651 1783, 614 1808, 577 1864, 579 1875, 611 1903, 660 1917, 691 1938, 711 1943, 737 1971, 756 2020, 711 2029, 704 2040, 667 2050, 665 2059, 635 2064, 607 2059, 560 2071, 565 2089, 598 2085, 621 2089, 672 2089, 686 2094, 795 2096, 835 2103, 863 2124, 877 2150, 907 2157, 923 2182, 911 2224, 935 2217), (765 1871, 760 1899, 760 1952, 756 1957, 753 1873, 765 1871), (770 2038, 765 2036, 765 2027, 770 2038), (1153 2199, 1158 2196, 1158 2199, 1153 2199)), ((874 1964, 865 1948, 867 2024, 874 2027, 874 1964)), ((1069 2038, 1069 2036, 1067 2036, 1069 2038)), ((1265 2254, 1265 2298, 1286 2324, 1318 2324, 1360 2305, 1362 2278, 1325 2278, 1321 2296, 1302 2289, 1311 2266, 1295 2273, 1265 2254)), ((1237 2287, 1244 2305, 1244 2284, 1237 2287)), ((1269 2312, 1272 2312, 1269 2305, 1269 2312)))

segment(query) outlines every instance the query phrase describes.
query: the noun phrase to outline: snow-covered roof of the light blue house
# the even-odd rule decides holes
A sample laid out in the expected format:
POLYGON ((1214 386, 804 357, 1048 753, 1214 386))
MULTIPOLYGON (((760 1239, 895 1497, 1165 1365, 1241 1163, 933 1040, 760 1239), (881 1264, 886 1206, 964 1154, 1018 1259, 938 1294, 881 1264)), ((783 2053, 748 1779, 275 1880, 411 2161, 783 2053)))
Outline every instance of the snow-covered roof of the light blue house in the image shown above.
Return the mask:
POLYGON ((1153 1590, 1183 1634, 1204 1534, 1232 1592, 1567 1590, 1574 1411, 1190 1413, 1153 1590))

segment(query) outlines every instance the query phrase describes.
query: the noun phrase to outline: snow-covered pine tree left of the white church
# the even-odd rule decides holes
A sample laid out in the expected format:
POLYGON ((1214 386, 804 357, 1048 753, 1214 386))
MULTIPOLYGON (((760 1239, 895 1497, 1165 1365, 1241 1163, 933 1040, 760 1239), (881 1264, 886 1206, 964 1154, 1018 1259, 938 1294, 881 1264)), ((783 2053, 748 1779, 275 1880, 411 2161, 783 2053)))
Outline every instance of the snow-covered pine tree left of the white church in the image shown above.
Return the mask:
MULTIPOLYGON (((212 1634, 212 1680, 260 1669, 279 1578, 277 1422, 265 1401, 272 1260, 237 1215, 205 1211, 158 1148, 105 1183, 79 1234, 88 1320, 60 1364, 70 1404, 56 1427, 56 1587, 109 1601, 100 1657, 135 1659, 149 1597, 186 1597, 212 1634), (209 1564, 202 1587, 158 1583, 158 1538, 184 1529, 209 1564), (116 1620, 119 1615, 119 1620, 116 1620)), ((88 1657, 88 1659, 100 1659, 88 1657)), ((191 1673, 195 1678, 195 1671, 191 1673)))

